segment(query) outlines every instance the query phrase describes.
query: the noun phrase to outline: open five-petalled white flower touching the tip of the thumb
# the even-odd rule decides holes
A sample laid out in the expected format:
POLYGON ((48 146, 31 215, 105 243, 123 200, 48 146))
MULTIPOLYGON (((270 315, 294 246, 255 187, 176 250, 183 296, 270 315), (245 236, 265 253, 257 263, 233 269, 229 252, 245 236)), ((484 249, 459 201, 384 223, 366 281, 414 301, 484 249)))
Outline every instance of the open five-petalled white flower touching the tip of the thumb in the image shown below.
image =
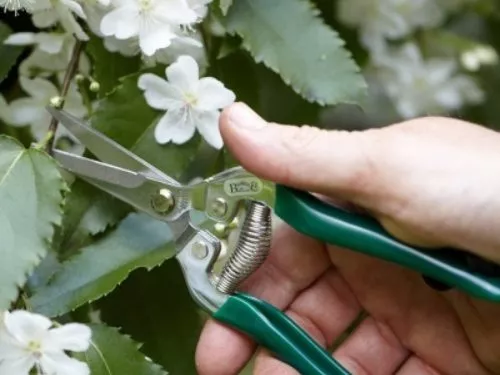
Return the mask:
POLYGON ((167 110, 156 126, 156 141, 183 144, 198 129, 211 146, 220 149, 219 109, 234 102, 234 93, 215 78, 200 79, 198 65, 190 56, 179 57, 166 69, 166 76, 168 81, 147 73, 138 81, 148 104, 167 110))

